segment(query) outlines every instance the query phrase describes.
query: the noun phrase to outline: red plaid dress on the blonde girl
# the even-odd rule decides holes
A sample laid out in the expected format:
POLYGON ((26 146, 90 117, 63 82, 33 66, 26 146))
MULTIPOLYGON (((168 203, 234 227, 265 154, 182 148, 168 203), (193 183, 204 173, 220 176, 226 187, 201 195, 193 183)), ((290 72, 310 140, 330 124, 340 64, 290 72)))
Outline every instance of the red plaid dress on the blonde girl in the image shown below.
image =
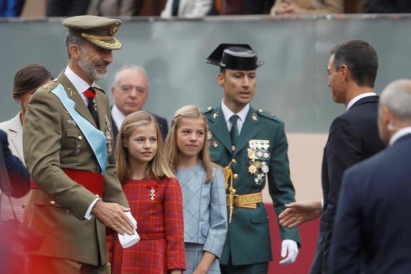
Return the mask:
POLYGON ((184 221, 176 179, 128 180, 123 191, 137 221, 141 240, 123 249, 117 235, 108 236, 112 274, 169 273, 185 270, 184 221), (151 200, 151 187, 155 189, 151 200))

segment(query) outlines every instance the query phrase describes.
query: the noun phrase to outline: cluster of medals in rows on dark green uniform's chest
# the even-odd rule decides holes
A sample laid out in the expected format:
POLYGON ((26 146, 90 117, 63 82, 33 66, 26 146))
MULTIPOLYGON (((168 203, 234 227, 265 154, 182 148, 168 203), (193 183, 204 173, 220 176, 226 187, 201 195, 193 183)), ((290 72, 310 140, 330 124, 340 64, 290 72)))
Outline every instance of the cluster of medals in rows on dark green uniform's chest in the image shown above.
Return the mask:
POLYGON ((270 162, 270 141, 249 140, 248 145, 248 172, 254 175, 254 183, 256 185, 262 185, 269 171, 267 163, 270 162))

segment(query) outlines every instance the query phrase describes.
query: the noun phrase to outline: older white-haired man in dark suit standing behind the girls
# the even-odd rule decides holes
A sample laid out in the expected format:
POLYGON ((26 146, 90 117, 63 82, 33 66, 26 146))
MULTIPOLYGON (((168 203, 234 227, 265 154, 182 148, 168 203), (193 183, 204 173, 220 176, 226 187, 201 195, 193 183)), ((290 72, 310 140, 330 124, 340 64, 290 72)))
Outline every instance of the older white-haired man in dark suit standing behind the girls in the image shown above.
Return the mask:
MULTIPOLYGON (((114 144, 118 130, 125 117, 143 108, 148 97, 148 80, 145 69, 126 65, 115 73, 111 87, 114 104, 111 106, 111 125, 113 126, 114 144)), ((169 132, 167 120, 153 114, 160 126, 163 140, 169 132)))

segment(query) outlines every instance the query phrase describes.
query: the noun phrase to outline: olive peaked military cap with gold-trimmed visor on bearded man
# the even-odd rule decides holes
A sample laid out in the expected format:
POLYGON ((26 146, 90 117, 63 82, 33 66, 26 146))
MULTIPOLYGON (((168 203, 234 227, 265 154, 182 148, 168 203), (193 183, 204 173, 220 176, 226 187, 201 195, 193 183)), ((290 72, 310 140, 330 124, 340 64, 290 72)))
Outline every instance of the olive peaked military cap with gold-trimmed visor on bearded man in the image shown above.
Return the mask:
POLYGON ((69 17, 63 21, 69 33, 81 37, 90 43, 109 50, 119 50, 121 43, 114 34, 121 25, 121 20, 92 15, 69 17))

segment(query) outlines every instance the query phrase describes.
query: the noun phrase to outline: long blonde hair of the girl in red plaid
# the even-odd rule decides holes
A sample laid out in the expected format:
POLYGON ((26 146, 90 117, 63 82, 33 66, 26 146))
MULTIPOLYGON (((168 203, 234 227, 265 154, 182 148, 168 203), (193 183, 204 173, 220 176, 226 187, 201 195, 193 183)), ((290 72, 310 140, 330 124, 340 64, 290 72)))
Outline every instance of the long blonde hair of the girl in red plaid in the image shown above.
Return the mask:
POLYGON ((157 132, 157 153, 152 160, 148 163, 147 170, 145 171, 146 177, 155 177, 159 180, 163 176, 168 178, 175 178, 173 171, 171 171, 164 157, 163 142, 161 139, 160 128, 154 116, 145 111, 137 111, 129 114, 118 132, 117 145, 115 147, 115 161, 116 161, 116 174, 120 183, 124 184, 128 179, 132 177, 132 169, 128 162, 129 152, 127 143, 129 141, 132 132, 139 126, 154 125, 157 132))

